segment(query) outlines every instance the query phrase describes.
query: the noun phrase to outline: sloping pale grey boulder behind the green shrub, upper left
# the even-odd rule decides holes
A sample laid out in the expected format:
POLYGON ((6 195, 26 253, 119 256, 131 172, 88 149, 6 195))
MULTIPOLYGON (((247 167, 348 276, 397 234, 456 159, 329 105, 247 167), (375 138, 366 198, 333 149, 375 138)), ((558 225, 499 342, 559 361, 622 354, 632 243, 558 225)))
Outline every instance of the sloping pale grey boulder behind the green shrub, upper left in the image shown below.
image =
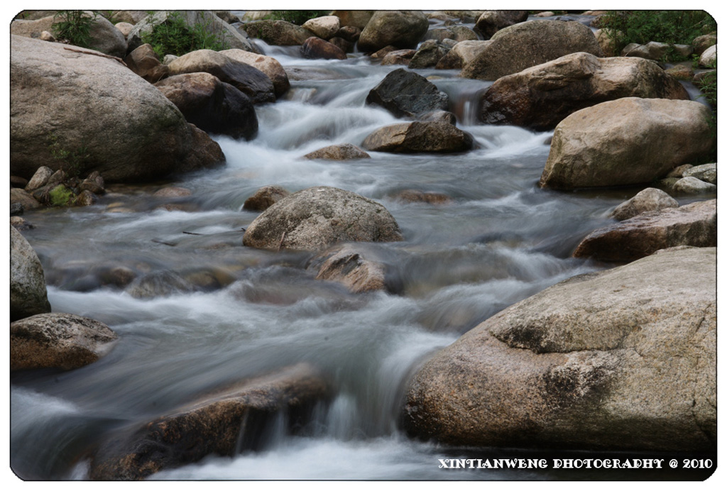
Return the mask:
POLYGON ((171 23, 173 20, 182 20, 190 30, 201 29, 206 36, 214 38, 214 41, 220 42, 227 48, 244 49, 245 51, 257 53, 258 50, 245 36, 226 23, 224 20, 206 10, 160 10, 151 15, 147 15, 143 20, 134 25, 134 29, 129 36, 126 36, 129 42, 129 49, 136 49, 144 44, 143 38, 153 32, 156 25, 163 23, 171 23))

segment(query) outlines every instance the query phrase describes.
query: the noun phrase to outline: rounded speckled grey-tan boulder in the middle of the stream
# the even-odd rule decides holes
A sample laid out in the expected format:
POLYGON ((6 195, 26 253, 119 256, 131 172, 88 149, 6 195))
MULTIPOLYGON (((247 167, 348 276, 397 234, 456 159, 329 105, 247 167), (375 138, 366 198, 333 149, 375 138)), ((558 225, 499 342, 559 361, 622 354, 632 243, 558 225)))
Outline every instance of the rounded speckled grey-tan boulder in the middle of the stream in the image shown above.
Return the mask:
POLYGON ((262 212, 243 244, 273 251, 317 251, 339 242, 401 240, 399 226, 379 203, 335 187, 310 187, 262 212))

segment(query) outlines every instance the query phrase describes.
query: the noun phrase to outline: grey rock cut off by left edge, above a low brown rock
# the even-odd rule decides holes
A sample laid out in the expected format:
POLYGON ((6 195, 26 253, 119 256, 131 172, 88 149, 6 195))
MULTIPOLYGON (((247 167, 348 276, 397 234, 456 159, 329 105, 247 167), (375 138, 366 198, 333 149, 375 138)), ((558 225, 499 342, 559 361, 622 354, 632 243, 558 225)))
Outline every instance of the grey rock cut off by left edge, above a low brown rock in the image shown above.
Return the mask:
POLYGON ((10 320, 50 312, 43 266, 22 234, 10 227, 10 320))

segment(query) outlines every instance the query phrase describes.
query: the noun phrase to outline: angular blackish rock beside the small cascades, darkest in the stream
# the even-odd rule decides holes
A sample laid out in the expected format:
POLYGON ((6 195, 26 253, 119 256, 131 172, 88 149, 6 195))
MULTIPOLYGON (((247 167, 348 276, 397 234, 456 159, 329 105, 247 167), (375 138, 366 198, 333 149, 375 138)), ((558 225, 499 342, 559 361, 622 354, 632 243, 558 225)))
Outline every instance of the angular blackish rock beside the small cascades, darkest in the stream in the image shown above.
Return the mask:
POLYGON ((426 78, 405 68, 390 72, 371 89, 366 104, 384 107, 398 118, 446 110, 449 96, 426 78))

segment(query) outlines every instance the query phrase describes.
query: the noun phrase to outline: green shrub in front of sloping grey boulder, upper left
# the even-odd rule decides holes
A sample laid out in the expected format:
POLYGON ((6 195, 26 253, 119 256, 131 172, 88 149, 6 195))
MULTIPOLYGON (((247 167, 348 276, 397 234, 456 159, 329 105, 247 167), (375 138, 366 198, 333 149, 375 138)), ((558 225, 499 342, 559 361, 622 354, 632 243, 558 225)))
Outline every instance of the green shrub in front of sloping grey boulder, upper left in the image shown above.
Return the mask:
POLYGON ((174 12, 166 20, 154 26, 149 34, 142 35, 161 59, 166 54, 182 56, 197 49, 221 51, 227 49, 222 33, 215 33, 211 23, 198 23, 190 28, 182 16, 174 12))

